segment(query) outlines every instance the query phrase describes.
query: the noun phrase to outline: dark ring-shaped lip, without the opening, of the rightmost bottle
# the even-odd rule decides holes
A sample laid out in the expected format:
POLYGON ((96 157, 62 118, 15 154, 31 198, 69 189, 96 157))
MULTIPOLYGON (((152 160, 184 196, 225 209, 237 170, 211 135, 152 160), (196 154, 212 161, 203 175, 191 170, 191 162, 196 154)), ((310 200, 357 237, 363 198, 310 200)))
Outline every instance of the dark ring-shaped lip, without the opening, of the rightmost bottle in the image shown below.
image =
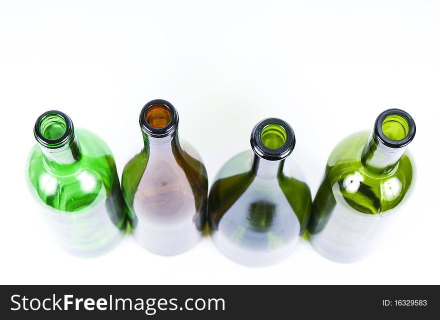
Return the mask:
POLYGON ((415 122, 408 112, 403 111, 397 108, 391 108, 383 111, 379 114, 374 122, 374 136, 378 140, 378 142, 390 148, 400 148, 402 146, 407 145, 412 141, 415 135, 415 122), (382 130, 383 121, 390 115, 399 115, 404 118, 408 124, 408 132, 405 137, 400 140, 393 140, 388 138, 382 130))

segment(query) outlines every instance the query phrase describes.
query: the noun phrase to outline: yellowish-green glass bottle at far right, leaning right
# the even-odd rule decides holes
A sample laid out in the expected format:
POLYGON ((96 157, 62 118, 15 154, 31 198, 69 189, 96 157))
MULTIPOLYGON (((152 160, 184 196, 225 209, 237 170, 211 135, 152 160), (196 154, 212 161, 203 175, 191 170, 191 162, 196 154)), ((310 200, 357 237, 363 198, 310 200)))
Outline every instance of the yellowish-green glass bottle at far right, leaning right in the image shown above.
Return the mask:
POLYGON ((325 257, 350 262, 379 243, 379 219, 386 220, 413 184, 407 145, 415 134, 412 117, 388 109, 374 129, 353 133, 337 144, 313 201, 308 224, 314 248, 325 257), (383 216, 383 218, 382 218, 383 216))

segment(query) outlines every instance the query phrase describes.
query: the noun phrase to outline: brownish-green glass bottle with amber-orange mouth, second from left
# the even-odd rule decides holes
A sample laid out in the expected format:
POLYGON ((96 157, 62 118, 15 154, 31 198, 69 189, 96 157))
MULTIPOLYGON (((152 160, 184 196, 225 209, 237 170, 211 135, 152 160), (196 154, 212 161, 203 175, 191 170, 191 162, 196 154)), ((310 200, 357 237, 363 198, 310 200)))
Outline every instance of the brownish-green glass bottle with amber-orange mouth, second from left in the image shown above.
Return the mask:
POLYGON ((178 114, 168 101, 140 111, 144 147, 127 162, 122 193, 136 240, 173 255, 193 247, 206 221, 208 180, 200 155, 178 136, 178 114))

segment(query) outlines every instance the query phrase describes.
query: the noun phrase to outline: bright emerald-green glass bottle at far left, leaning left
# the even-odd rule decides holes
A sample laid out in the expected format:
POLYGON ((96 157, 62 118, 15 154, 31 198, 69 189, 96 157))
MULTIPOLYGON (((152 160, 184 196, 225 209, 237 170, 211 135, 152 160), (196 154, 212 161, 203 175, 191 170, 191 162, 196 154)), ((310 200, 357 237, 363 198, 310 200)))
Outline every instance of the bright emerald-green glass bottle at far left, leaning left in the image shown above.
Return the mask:
POLYGON ((80 256, 112 248, 126 226, 126 208, 110 149, 74 128, 63 112, 41 114, 28 162, 31 192, 48 212, 59 244, 80 256))

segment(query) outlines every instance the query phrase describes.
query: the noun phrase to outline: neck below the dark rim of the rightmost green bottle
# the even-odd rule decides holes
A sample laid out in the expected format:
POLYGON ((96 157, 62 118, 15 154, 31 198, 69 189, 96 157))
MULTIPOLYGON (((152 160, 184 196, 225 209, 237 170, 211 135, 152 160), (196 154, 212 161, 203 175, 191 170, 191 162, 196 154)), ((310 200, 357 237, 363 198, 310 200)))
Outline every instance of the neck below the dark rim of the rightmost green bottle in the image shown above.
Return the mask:
POLYGON ((405 149, 406 145, 395 148, 386 146, 373 131, 363 147, 361 161, 369 171, 389 173, 396 167, 405 149))

